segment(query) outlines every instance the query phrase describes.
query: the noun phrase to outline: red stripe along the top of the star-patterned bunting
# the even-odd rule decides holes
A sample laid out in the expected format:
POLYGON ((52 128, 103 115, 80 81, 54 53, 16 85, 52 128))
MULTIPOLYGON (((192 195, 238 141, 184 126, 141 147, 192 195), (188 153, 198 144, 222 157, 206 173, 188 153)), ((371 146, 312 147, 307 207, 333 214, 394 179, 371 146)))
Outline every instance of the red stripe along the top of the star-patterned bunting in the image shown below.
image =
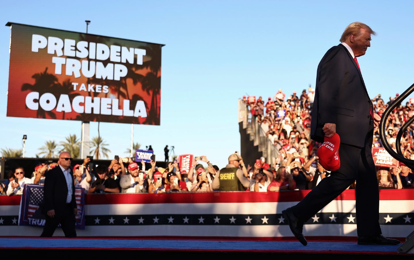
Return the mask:
MULTIPOLYGON (((182 192, 161 194, 85 194, 85 205, 154 203, 256 203, 301 201, 310 191, 279 192, 182 192)), ((0 206, 19 205, 21 196, 0 196, 0 206)), ((355 200, 355 190, 342 192, 335 200, 355 200)), ((414 200, 414 189, 380 190, 380 200, 414 200)))

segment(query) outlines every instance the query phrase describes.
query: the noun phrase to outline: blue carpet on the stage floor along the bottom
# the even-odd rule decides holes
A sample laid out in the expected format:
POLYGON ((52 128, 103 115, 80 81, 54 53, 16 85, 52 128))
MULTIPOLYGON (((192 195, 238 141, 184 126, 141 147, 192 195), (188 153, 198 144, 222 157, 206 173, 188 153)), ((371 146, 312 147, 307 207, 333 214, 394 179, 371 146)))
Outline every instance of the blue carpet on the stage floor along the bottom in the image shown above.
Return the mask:
MULTIPOLYGON (((400 244, 401 245, 401 244, 400 244)), ((84 249, 84 250, 145 250, 145 251, 219 251, 278 253, 356 253, 397 254, 400 246, 359 246, 354 242, 310 241, 302 246, 297 241, 243 240, 181 240, 181 239, 94 239, 94 238, 0 238, 0 250, 22 249, 84 249)))

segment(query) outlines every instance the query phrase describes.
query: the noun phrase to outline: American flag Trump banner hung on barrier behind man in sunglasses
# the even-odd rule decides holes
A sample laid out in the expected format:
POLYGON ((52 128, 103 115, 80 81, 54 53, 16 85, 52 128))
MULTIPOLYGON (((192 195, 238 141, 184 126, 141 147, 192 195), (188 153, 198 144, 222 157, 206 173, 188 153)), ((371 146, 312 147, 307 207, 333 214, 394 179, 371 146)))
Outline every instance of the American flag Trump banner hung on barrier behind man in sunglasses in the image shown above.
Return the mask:
MULTIPOLYGON (((85 190, 75 189, 77 205, 76 227, 85 229, 85 190)), ((20 201, 19 225, 43 227, 46 216, 42 213, 43 185, 26 184, 20 201)))

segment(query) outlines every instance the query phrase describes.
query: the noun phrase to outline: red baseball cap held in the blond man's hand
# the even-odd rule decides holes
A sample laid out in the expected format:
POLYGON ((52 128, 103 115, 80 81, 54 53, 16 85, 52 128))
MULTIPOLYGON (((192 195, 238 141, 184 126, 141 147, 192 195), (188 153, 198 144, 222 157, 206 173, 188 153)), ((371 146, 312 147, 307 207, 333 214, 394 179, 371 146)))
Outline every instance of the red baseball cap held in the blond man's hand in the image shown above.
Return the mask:
POLYGON ((341 161, 339 160, 340 142, 339 135, 335 133, 331 138, 325 136, 323 144, 319 147, 317 152, 319 163, 325 170, 333 171, 341 167, 341 161))

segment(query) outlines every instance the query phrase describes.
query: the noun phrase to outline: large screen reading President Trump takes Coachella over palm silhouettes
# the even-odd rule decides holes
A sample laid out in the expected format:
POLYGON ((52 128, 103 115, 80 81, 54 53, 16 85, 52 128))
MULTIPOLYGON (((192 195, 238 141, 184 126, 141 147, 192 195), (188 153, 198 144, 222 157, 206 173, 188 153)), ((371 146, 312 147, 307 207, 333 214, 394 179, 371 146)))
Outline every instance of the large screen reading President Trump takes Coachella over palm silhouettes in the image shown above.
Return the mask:
POLYGON ((10 26, 7 116, 160 124, 164 45, 10 26))

